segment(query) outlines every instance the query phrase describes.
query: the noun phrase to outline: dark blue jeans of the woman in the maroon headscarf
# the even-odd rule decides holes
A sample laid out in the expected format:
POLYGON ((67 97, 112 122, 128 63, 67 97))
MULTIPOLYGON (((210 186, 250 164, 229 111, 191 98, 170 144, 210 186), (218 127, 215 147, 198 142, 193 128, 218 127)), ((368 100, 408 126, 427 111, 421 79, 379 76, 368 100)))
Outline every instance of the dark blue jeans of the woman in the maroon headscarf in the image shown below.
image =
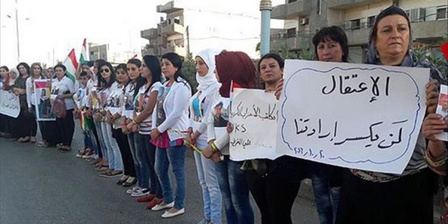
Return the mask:
POLYGON ((254 212, 250 206, 249 188, 244 171, 240 169, 242 162, 224 160, 216 163, 216 175, 226 209, 228 224, 253 224, 254 212))

